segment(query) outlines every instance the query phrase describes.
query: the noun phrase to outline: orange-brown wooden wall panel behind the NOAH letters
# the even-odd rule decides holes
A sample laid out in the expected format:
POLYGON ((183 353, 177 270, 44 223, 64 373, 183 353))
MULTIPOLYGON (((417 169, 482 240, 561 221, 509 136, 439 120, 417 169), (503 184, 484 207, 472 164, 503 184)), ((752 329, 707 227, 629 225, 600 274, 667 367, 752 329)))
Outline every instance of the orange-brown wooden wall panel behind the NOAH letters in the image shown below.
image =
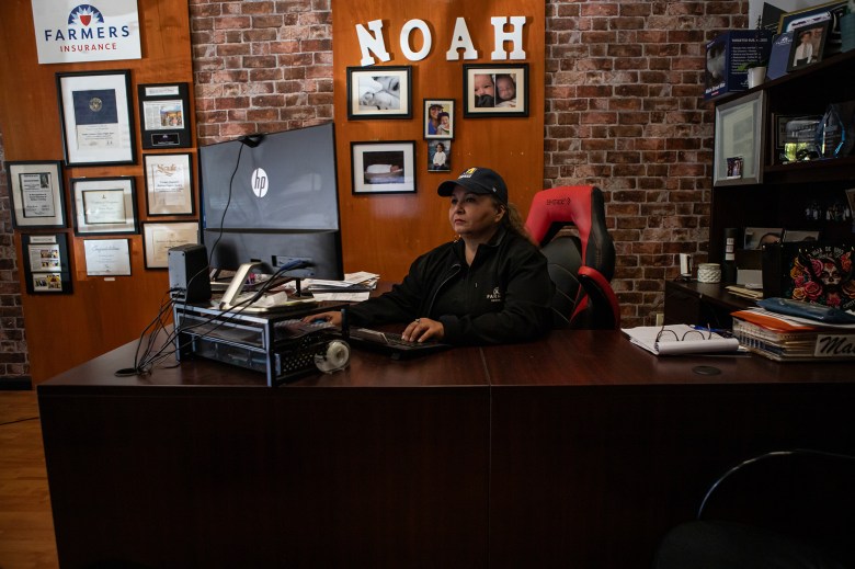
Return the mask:
MULTIPOLYGON (((542 190, 544 172, 544 37, 545 4, 542 0, 477 0, 433 2, 333 0, 333 64, 335 136, 339 192, 342 206, 344 265, 397 281, 420 253, 454 237, 447 219, 448 201, 436 195, 440 182, 456 178, 470 166, 493 168, 508 182, 511 202, 523 215, 534 194, 542 190), (491 61, 493 29, 490 16, 526 16, 524 61, 491 61), (449 61, 445 57, 458 16, 479 52, 477 59, 449 61), (412 19, 428 23, 433 46, 421 61, 408 60, 400 48, 403 24, 412 19), (347 121, 346 68, 360 66, 362 53, 356 24, 381 20, 391 60, 377 65, 412 66, 412 120, 347 121), (463 118, 463 67, 465 64, 527 62, 529 113, 527 117, 463 118), (452 171, 428 171, 428 143, 423 139, 423 100, 454 99, 455 139, 452 171), (353 195, 351 141, 415 140, 417 193, 353 195)), ((420 33, 412 47, 421 46, 420 33)))

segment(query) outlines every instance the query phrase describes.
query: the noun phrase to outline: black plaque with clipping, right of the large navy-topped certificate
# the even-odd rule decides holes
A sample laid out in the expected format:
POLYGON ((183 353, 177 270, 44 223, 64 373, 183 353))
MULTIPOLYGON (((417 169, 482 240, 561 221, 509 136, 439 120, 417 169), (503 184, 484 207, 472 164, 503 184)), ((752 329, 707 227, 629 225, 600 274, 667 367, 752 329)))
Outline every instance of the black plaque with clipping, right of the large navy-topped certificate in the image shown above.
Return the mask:
POLYGON ((190 96, 187 83, 137 86, 142 148, 189 148, 190 96))

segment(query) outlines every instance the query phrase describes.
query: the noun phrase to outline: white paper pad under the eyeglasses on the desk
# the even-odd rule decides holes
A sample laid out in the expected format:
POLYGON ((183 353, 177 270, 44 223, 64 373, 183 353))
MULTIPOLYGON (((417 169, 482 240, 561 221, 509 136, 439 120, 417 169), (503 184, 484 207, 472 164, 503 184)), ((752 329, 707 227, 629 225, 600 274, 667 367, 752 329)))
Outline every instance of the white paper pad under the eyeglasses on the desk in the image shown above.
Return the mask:
POLYGON ((709 354, 736 352, 739 340, 686 325, 639 326, 625 328, 629 341, 657 355, 709 354), (658 339, 658 341, 657 341, 658 339))

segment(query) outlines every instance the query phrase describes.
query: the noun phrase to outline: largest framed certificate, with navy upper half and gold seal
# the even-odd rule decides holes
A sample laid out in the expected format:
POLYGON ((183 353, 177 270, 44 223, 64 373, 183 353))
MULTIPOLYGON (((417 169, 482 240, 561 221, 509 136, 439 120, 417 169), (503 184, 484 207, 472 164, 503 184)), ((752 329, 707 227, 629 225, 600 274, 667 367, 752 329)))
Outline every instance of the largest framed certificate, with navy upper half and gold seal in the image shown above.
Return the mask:
POLYGON ((66 166, 136 163, 130 71, 56 75, 66 166))

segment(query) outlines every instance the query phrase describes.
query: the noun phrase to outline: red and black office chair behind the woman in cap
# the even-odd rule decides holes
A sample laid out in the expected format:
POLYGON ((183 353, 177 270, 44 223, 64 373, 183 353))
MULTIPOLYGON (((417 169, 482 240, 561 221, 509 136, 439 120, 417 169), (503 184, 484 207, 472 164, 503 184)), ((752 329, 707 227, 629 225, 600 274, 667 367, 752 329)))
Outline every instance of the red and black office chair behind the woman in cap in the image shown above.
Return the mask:
POLYGON ((538 192, 525 221, 549 261, 556 285, 556 326, 619 329, 620 308, 609 282, 615 272, 615 244, 605 225, 603 192, 592 185, 538 192), (559 232, 574 225, 579 236, 559 232))

